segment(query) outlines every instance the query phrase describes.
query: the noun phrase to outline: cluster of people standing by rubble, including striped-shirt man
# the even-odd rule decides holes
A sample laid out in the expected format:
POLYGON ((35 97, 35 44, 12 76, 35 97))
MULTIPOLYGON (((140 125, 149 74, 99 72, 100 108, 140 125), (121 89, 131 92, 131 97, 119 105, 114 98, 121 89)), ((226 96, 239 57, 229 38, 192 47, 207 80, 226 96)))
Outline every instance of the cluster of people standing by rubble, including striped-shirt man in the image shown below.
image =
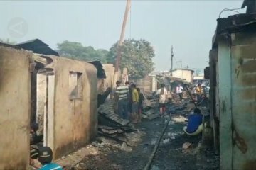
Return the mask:
POLYGON ((144 96, 135 84, 117 81, 115 101, 117 101, 117 113, 123 119, 131 120, 132 123, 142 121, 142 101, 144 96))

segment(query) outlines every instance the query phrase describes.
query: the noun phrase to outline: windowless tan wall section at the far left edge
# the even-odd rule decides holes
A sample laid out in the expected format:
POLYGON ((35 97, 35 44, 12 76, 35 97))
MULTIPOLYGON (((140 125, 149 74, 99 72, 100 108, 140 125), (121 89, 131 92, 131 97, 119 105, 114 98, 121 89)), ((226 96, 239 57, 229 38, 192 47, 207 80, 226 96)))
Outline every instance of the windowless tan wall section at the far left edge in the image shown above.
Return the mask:
POLYGON ((0 169, 28 169, 31 55, 0 46, 0 169))

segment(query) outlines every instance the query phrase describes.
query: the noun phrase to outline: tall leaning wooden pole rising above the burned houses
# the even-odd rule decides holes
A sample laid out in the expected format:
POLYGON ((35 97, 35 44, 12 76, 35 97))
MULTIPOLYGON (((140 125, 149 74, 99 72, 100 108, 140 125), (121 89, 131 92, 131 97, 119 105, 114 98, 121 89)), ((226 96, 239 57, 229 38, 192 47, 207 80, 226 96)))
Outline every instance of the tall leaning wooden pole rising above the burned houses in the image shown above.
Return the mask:
POLYGON ((131 8, 131 0, 127 0, 127 6, 125 8, 125 13, 124 13, 124 21, 122 23, 122 31, 121 31, 120 40, 119 40, 118 46, 117 46, 117 58, 116 58, 115 65, 114 65, 114 78, 113 78, 113 86, 112 87, 115 86, 115 82, 118 80, 118 71, 119 71, 121 57, 122 57, 121 49, 122 49, 122 44, 124 42, 124 32, 125 32, 125 27, 126 27, 127 18, 128 18, 130 8, 131 8))

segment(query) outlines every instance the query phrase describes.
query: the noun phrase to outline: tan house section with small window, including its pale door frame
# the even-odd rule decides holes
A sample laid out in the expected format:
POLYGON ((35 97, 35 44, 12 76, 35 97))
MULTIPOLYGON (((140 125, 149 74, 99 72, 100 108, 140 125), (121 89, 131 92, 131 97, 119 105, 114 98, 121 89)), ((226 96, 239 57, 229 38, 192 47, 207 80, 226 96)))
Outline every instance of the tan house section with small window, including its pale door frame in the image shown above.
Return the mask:
POLYGON ((87 62, 40 57, 46 63, 37 73, 36 118, 44 145, 58 158, 97 135, 97 69, 87 62))

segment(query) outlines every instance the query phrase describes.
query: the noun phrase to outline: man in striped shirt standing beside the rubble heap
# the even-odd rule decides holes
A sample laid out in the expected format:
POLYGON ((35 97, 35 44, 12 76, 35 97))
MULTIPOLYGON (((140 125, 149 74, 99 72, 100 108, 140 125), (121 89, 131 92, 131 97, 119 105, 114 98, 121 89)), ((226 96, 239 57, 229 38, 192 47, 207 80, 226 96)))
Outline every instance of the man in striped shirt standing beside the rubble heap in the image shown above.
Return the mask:
POLYGON ((117 81, 117 112, 121 118, 129 119, 128 115, 128 97, 129 97, 129 87, 122 86, 121 81, 117 81))

